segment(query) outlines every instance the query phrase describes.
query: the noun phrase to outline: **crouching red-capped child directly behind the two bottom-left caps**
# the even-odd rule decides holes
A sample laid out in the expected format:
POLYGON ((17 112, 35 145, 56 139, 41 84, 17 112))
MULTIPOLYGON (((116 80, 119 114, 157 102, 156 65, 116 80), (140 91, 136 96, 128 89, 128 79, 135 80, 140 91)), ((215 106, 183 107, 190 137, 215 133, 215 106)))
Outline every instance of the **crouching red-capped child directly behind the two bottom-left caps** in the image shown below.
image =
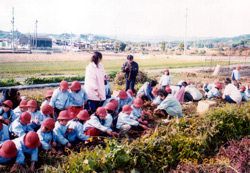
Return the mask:
POLYGON ((12 138, 17 138, 23 136, 28 131, 33 131, 33 129, 28 125, 30 124, 31 115, 29 112, 24 112, 17 118, 13 123, 10 124, 9 131, 12 138))

